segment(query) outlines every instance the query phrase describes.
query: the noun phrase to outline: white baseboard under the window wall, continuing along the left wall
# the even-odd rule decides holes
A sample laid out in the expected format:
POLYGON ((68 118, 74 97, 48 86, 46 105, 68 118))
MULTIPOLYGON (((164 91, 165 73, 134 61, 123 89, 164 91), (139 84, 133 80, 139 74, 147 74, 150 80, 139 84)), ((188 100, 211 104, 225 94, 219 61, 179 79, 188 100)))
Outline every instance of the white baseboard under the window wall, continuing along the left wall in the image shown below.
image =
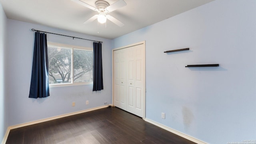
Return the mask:
POLYGON ((58 119, 58 118, 64 118, 66 116, 72 116, 72 115, 75 115, 75 114, 82 114, 84 112, 90 112, 90 111, 93 111, 93 110, 98 110, 98 109, 101 109, 101 108, 107 108, 108 105, 105 105, 105 106, 99 106, 99 107, 96 107, 96 108, 90 108, 90 109, 87 109, 87 110, 80 110, 78 112, 71 112, 71 113, 68 113, 68 114, 62 114, 62 115, 59 115, 59 116, 53 116, 53 117, 50 117, 50 118, 44 118, 42 120, 36 120, 36 121, 32 121, 32 122, 26 122, 26 123, 23 123, 23 124, 17 124, 17 125, 14 125, 14 126, 9 126, 6 130, 6 133, 4 135, 4 138, 2 140, 2 144, 5 144, 6 143, 6 140, 8 138, 8 135, 9 135, 9 132, 10 130, 12 129, 15 129, 15 128, 21 128, 23 126, 29 126, 29 125, 32 125, 32 124, 38 124, 38 123, 41 123, 41 122, 47 122, 47 121, 50 121, 50 120, 55 120, 55 119, 58 119))

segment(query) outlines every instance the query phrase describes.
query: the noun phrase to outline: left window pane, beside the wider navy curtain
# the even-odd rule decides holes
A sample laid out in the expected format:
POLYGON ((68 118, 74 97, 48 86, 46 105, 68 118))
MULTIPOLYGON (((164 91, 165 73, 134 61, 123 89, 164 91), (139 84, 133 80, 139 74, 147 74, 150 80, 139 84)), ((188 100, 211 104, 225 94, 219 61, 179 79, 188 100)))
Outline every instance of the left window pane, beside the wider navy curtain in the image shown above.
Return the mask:
POLYGON ((49 84, 71 82, 71 50, 48 46, 49 84))

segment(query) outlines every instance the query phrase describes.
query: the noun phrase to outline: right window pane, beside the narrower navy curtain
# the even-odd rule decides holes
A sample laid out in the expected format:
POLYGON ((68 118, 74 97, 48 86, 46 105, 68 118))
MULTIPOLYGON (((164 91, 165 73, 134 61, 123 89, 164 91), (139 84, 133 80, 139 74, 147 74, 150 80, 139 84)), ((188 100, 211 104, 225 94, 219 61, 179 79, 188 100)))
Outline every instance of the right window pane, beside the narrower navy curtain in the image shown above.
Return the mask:
POLYGON ((74 82, 92 82, 92 51, 74 49, 74 82))

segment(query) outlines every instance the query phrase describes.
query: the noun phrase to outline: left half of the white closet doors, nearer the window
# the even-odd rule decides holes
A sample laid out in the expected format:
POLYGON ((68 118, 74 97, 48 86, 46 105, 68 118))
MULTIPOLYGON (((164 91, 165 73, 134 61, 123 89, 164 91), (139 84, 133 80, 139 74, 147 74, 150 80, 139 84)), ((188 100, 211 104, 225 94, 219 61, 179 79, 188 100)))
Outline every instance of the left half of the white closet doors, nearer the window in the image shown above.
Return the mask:
POLYGON ((114 51, 114 106, 126 110, 126 52, 114 51))

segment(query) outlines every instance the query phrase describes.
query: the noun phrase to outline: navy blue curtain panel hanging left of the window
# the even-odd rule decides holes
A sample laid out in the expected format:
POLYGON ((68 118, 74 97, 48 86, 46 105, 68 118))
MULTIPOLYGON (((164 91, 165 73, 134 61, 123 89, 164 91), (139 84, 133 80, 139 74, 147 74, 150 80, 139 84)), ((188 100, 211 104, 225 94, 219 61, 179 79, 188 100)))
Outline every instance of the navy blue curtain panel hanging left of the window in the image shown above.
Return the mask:
POLYGON ((35 32, 29 98, 45 98, 47 96, 50 94, 46 34, 35 32))

